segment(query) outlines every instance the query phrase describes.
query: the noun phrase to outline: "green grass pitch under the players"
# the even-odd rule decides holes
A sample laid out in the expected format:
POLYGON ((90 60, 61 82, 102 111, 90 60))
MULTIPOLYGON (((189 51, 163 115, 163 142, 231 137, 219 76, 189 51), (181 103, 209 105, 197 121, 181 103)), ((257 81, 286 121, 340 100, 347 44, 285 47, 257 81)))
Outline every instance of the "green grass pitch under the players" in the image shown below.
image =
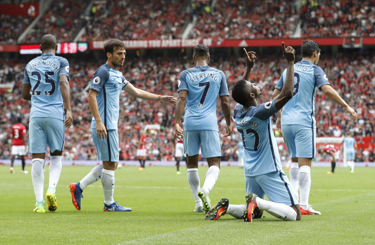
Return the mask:
MULTIPOLYGON (((48 185, 48 167, 45 189, 48 185)), ((103 212, 101 182, 87 187, 81 211, 72 205, 69 184, 80 181, 91 166, 63 166, 57 186, 56 212, 36 214, 30 170, 9 173, 0 166, 0 244, 375 244, 375 168, 312 167, 310 203, 322 215, 303 215, 301 221, 264 217, 244 223, 230 215, 205 221, 195 213, 187 183, 175 167, 127 166, 116 170, 114 200, 132 212, 103 212)), ((199 167, 203 185, 207 167, 199 167)), ((288 171, 285 171, 288 174, 288 171)), ((221 197, 245 203, 243 169, 222 167, 210 193, 211 204, 221 197)))

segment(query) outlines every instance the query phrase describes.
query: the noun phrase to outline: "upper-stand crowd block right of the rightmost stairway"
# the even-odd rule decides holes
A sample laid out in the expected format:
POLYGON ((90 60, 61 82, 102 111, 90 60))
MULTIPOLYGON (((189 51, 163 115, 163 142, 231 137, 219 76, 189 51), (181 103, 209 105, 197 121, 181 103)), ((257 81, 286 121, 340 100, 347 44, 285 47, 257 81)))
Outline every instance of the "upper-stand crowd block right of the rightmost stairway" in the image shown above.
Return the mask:
POLYGON ((302 37, 375 37, 375 1, 303 0, 302 37), (319 3, 319 4, 318 4, 319 3))

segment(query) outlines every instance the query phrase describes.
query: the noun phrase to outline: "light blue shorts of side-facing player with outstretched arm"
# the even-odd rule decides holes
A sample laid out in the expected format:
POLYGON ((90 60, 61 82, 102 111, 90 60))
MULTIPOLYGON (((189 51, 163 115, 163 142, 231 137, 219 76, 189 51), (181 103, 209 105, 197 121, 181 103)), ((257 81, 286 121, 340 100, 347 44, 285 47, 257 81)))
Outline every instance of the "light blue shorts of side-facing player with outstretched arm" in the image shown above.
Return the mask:
POLYGON ((107 130, 107 139, 96 136, 96 128, 91 128, 96 155, 99 161, 118 161, 118 131, 107 130))

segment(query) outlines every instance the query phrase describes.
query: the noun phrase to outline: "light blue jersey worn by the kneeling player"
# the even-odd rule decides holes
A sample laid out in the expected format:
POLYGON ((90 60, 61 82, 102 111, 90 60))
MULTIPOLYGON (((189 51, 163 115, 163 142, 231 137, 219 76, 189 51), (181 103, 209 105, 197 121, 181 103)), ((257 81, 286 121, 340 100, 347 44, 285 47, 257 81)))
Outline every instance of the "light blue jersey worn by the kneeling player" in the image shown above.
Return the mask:
POLYGON ((251 106, 245 112, 242 108, 242 105, 236 105, 233 121, 245 147, 243 156, 245 176, 257 176, 281 170, 278 145, 270 118, 278 111, 275 99, 257 107, 251 106))

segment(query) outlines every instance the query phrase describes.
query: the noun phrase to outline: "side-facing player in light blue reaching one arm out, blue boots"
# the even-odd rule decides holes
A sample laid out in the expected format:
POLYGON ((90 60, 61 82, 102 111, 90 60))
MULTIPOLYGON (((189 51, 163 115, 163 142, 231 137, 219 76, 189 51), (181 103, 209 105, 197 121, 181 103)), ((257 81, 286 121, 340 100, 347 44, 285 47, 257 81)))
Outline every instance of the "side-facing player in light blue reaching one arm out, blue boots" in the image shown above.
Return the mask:
POLYGON ((89 104, 93 114, 91 133, 102 164, 94 167, 80 182, 69 185, 72 201, 78 210, 81 209, 81 197, 87 185, 101 179, 104 191, 104 211, 132 211, 118 205, 113 200, 115 170, 119 160, 117 122, 120 111, 120 92, 127 93, 145 100, 160 101, 164 104, 175 105, 173 96, 159 96, 135 88, 117 70, 125 61, 125 45, 117 39, 104 43, 104 54, 107 63, 99 67, 91 82, 89 104))

